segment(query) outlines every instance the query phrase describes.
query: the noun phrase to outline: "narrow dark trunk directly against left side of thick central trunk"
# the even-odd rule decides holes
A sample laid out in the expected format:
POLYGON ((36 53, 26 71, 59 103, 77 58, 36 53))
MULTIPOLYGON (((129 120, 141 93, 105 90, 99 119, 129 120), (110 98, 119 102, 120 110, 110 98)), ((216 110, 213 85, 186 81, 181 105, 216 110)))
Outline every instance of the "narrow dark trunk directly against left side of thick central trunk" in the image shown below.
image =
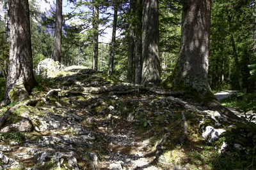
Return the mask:
POLYGON ((141 72, 142 72, 142 60, 141 60, 141 18, 142 18, 142 6, 141 0, 137 0, 136 4, 136 27, 135 27, 135 83, 141 83, 141 72))

